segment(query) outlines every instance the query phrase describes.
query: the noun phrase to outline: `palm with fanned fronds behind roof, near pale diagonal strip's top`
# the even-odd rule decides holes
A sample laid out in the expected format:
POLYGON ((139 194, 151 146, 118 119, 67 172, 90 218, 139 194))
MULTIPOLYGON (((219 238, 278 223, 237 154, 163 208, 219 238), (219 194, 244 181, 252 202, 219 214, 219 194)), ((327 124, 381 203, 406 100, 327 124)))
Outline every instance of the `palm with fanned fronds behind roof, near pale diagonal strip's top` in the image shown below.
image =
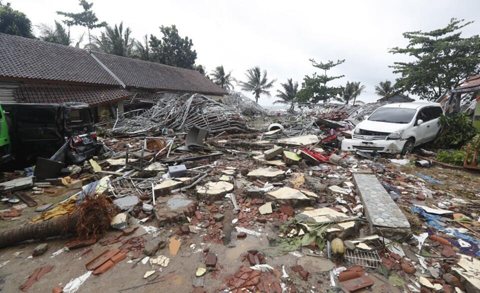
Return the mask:
POLYGON ((105 31, 102 31, 99 37, 93 36, 92 48, 117 56, 129 57, 132 55, 135 44, 135 40, 130 35, 130 27, 126 27, 123 31, 123 21, 115 26, 106 25, 105 31))

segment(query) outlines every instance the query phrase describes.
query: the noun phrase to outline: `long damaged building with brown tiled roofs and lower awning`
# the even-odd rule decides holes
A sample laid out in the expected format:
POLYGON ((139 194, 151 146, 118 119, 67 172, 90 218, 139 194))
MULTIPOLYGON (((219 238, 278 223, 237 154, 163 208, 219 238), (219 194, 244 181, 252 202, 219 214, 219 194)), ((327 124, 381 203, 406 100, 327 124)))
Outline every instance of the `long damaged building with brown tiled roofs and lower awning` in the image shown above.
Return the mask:
POLYGON ((196 70, 0 33, 0 102, 84 102, 97 117, 154 101, 156 92, 227 92, 196 70))

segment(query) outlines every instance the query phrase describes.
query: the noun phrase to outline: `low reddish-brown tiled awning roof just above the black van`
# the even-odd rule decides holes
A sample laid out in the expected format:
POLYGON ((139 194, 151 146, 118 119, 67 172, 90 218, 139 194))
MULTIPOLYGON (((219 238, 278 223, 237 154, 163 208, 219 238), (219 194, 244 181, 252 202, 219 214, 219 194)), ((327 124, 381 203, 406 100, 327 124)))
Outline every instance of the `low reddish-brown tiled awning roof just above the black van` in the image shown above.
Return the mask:
POLYGON ((24 84, 15 89, 17 102, 63 103, 69 101, 97 105, 133 96, 118 87, 95 87, 78 85, 24 84))

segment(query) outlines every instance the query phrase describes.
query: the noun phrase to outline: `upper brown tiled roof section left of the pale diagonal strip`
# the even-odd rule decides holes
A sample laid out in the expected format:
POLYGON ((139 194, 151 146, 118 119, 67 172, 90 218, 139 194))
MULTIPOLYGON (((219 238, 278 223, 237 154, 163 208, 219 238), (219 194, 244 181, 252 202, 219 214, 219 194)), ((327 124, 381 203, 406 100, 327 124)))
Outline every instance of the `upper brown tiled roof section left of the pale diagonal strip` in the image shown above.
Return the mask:
POLYGON ((0 33, 0 77, 119 85, 86 50, 0 33))

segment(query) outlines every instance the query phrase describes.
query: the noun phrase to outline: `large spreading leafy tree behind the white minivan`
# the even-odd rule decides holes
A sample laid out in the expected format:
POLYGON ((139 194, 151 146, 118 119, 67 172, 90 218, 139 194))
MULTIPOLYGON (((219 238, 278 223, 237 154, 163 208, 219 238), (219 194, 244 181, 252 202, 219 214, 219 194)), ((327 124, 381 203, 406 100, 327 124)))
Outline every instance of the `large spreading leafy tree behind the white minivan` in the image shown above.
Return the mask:
POLYGON ((393 54, 406 54, 411 62, 394 62, 396 86, 402 91, 418 95, 421 99, 434 100, 445 91, 456 87, 471 75, 480 72, 480 37, 460 37, 461 28, 472 23, 451 18, 444 28, 423 32, 408 31, 405 48, 389 49, 393 54))

